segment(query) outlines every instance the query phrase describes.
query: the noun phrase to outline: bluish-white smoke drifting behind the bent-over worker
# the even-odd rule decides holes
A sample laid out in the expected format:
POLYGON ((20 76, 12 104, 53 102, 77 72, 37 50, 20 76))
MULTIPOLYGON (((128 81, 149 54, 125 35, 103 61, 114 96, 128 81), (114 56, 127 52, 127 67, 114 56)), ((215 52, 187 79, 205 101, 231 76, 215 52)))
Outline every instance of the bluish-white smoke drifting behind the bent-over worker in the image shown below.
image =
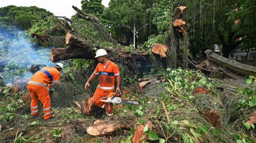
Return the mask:
MULTIPOLYGON (((2 28, 0 28, 2 29, 2 28)), ((35 45, 28 40, 28 34, 18 31, 19 39, 12 33, 0 30, 0 67, 4 84, 12 83, 17 78, 29 80, 33 75, 29 69, 32 64, 54 66, 50 59, 50 48, 35 45), (24 38, 26 37, 26 38, 24 38)))

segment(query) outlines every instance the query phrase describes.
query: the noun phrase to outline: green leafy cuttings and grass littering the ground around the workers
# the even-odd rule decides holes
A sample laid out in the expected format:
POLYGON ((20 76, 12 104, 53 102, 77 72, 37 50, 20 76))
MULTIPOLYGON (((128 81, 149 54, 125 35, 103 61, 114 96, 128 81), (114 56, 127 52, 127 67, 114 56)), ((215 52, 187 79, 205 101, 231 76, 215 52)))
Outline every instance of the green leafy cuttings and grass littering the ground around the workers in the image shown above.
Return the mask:
MULTIPOLYGON (((255 107, 249 107, 246 104, 242 107, 238 106, 240 99, 245 99, 246 103, 249 102, 249 95, 241 94, 243 91, 236 94, 225 90, 221 91, 216 88, 220 86, 220 82, 207 79, 197 71, 186 69, 175 69, 174 71, 170 70, 165 73, 165 77, 170 81, 154 84, 146 88, 144 93, 138 93, 136 89, 129 91, 124 96, 139 100, 141 105, 123 105, 119 110, 115 108, 114 116, 118 114, 118 120, 121 121, 127 117, 134 119, 130 125, 131 128, 142 120, 156 122, 161 125, 162 130, 159 133, 166 141, 173 135, 177 135, 180 142, 186 142, 186 140, 194 142, 195 138, 203 142, 240 142, 240 140, 253 142, 252 140, 256 140, 255 129, 247 129, 243 125, 255 107), (177 84, 177 87, 174 83, 170 84, 171 80, 176 80, 174 83, 177 84), (209 88, 210 93, 193 94, 193 90, 189 88, 192 85, 209 88), (174 87, 181 88, 181 90, 173 89, 174 87), (185 87, 187 88, 185 89, 185 87), (158 92, 153 92, 154 89, 158 92), (171 123, 167 122, 161 101, 165 104, 171 123), (221 125, 216 128, 211 125, 203 115, 203 111, 207 109, 220 114, 221 125)), ((96 120, 91 116, 83 116, 73 111, 73 107, 75 107, 72 104, 73 100, 86 99, 89 93, 93 93, 93 88, 88 92, 83 89, 86 78, 81 78, 79 74, 74 75, 76 84, 72 79, 68 80, 62 77, 63 82, 56 88, 52 97, 53 112, 57 117, 46 123, 42 122, 42 116, 37 119, 30 118, 29 104, 24 104, 21 100, 26 91, 13 94, 9 88, 2 87, 0 115, 3 117, 0 118, 2 125, 0 141, 14 142, 17 138, 16 142, 25 142, 25 140, 27 142, 44 142, 49 139, 52 142, 109 142, 109 136, 94 137, 88 135, 86 131, 72 132, 71 136, 65 140, 59 137, 61 133, 59 135, 55 133, 53 136, 53 132, 59 129, 63 133, 65 127, 73 125, 77 118, 85 119, 86 126, 92 125, 96 120)), ((92 83, 92 87, 96 86, 96 83, 97 81, 95 84, 92 83)), ((255 84, 253 85, 251 89, 255 90, 255 84)), ((241 90, 245 89, 241 88, 241 90)), ((113 142, 130 142, 130 137, 131 132, 128 130, 124 135, 114 136, 112 139, 113 142)))

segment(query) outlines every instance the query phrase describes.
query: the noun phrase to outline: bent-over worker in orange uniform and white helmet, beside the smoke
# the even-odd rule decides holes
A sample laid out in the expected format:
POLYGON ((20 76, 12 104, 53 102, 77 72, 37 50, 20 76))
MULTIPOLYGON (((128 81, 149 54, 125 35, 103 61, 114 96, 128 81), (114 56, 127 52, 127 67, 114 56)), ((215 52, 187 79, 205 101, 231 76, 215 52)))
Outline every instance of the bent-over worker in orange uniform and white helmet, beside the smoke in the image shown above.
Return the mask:
POLYGON ((51 102, 49 92, 59 83, 60 71, 63 69, 62 63, 56 63, 54 67, 43 67, 37 71, 27 83, 27 89, 31 96, 31 116, 36 118, 39 115, 38 100, 43 103, 44 119, 52 119, 51 102), (50 87, 47 88, 48 84, 50 87))

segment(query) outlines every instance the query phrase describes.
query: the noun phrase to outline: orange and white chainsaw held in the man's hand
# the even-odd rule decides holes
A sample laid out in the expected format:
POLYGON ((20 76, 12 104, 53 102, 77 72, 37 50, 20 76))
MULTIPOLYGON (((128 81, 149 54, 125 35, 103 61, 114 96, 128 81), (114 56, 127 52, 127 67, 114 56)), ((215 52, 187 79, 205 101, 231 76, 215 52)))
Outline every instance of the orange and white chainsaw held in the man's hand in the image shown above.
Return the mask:
POLYGON ((101 97, 102 102, 116 103, 116 104, 133 104, 140 105, 139 101, 136 100, 123 100, 121 99, 122 92, 117 91, 117 93, 109 93, 108 96, 101 97), (104 99, 106 98, 106 99, 104 99))

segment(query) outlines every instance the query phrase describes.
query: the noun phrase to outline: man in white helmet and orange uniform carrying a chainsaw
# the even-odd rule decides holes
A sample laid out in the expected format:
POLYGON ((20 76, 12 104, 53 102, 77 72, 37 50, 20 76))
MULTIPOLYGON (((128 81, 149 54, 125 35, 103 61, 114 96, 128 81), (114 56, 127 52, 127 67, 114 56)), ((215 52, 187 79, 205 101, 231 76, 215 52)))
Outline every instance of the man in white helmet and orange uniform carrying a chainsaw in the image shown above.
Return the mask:
POLYGON ((99 76, 99 84, 96 88, 95 93, 93 94, 92 101, 98 107, 104 108, 106 111, 106 115, 108 117, 112 117, 113 115, 113 104, 108 102, 102 102, 101 97, 107 96, 110 92, 115 91, 115 77, 117 82, 116 92, 120 92, 120 75, 118 66, 108 60, 107 52, 104 49, 99 49, 96 52, 96 56, 98 58, 98 65, 92 75, 89 77, 88 81, 86 81, 85 89, 87 90, 87 86, 90 86, 90 82, 95 79, 95 77, 99 76))

